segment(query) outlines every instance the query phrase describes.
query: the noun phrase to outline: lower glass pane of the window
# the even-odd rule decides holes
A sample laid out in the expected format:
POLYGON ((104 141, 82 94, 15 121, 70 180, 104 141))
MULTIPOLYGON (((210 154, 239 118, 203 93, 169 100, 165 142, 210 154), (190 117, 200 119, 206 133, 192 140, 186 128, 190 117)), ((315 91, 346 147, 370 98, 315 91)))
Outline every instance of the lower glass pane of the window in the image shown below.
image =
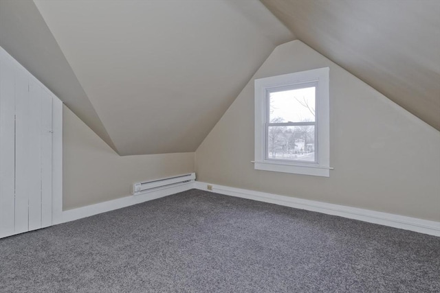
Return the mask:
POLYGON ((316 161, 315 126, 269 126, 267 159, 316 161))

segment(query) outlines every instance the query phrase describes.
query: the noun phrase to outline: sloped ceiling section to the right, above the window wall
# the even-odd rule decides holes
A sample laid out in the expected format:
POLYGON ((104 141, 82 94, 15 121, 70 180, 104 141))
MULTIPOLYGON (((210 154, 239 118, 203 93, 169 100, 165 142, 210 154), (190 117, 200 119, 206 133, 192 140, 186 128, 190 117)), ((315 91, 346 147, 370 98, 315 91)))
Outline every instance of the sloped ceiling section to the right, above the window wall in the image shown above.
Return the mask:
POLYGON ((299 40, 440 130, 439 0, 261 1, 299 40))

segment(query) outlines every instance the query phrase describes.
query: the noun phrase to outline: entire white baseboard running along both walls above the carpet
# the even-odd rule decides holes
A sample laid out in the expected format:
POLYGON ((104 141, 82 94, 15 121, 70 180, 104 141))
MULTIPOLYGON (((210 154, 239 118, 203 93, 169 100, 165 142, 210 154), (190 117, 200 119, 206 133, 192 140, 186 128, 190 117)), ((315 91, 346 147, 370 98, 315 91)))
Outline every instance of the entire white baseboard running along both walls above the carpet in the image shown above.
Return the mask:
POLYGON ((54 217, 53 224, 61 224, 87 218, 98 213, 105 213, 123 207, 129 207, 133 204, 139 204, 148 200, 155 200, 156 198, 163 198, 172 194, 177 194, 189 189, 200 189, 205 191, 216 192, 217 194, 225 194, 227 196, 235 196, 239 198, 247 198, 250 200, 257 200, 261 202, 269 202, 272 204, 279 204, 285 207, 293 207, 296 209, 305 209, 307 211, 316 211, 318 213, 326 213, 328 215, 338 215, 343 218, 361 220, 374 224, 381 224, 384 226, 391 226, 394 228, 401 228, 404 230, 415 231, 440 237, 440 222, 421 220, 417 218, 410 218, 403 215, 395 215, 392 213, 382 213, 380 211, 370 211, 367 209, 358 209, 354 207, 346 207, 338 204, 329 204, 326 202, 318 202, 314 200, 304 200, 301 198, 293 198, 290 196, 279 196, 276 194, 268 194, 260 191, 252 191, 248 189, 239 189, 234 187, 227 187, 222 185, 214 185, 211 183, 203 183, 199 181, 184 183, 170 187, 162 187, 155 191, 150 191, 146 194, 138 196, 126 196, 109 200, 107 202, 100 202, 98 204, 91 204, 86 207, 78 209, 70 209, 57 213, 54 217), (212 190, 207 189, 207 185, 212 185, 212 190))

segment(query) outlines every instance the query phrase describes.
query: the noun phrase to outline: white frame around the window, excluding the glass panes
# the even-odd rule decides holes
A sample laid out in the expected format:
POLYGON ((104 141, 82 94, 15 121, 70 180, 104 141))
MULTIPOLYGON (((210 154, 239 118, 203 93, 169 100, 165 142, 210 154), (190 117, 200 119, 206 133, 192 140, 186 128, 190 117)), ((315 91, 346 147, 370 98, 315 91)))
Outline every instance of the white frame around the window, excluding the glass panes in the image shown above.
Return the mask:
POLYGON ((329 177, 330 105, 329 67, 276 75, 255 80, 255 161, 254 169, 329 177), (314 162, 270 159, 267 157, 269 95, 276 91, 316 86, 314 162))

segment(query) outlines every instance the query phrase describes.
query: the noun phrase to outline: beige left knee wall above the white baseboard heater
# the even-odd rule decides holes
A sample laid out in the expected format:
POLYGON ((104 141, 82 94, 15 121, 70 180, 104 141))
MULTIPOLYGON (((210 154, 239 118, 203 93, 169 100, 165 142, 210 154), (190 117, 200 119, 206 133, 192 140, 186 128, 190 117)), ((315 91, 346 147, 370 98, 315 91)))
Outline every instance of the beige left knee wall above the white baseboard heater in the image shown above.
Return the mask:
POLYGON ((189 172, 193 152, 119 156, 63 107, 63 210, 129 196, 135 182, 189 172))

